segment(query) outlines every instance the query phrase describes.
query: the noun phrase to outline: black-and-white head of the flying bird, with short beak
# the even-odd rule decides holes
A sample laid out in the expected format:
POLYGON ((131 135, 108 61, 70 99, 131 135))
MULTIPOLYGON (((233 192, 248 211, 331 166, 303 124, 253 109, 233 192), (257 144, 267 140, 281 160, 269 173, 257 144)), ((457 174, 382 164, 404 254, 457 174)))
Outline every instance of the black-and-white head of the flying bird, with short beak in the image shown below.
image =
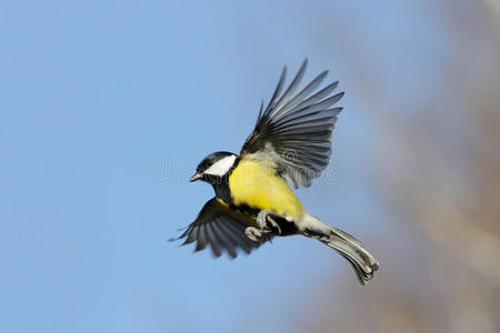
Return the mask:
POLYGON ((237 159, 237 154, 226 151, 211 153, 198 164, 197 172, 189 181, 203 180, 210 184, 218 184, 229 173, 237 159))

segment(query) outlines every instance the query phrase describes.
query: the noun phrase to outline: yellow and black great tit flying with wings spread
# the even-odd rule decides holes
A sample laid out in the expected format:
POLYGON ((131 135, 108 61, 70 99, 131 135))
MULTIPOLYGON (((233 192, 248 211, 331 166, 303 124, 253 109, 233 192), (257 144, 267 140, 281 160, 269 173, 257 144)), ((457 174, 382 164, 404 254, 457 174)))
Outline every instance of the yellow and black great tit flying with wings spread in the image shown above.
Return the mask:
POLYGON ((226 252, 234 259, 274 238, 303 235, 340 253, 366 284, 379 262, 352 235, 309 213, 291 188, 311 186, 330 163, 331 134, 342 111, 333 105, 344 94, 333 93, 339 81, 319 89, 328 70, 298 90, 307 64, 306 58, 287 88, 283 68, 239 154, 214 152, 198 164, 189 181, 211 184, 214 198, 174 240, 196 242, 194 251, 210 245, 216 258, 226 252))

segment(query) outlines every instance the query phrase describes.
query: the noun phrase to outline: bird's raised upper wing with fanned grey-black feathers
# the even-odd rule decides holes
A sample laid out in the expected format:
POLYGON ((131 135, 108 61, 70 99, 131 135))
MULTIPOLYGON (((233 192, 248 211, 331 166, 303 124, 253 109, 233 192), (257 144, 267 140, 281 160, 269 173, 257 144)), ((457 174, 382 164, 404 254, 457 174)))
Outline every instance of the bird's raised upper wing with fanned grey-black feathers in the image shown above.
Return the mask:
POLYGON ((281 93, 287 68, 263 110, 261 104, 256 128, 243 144, 242 159, 271 162, 279 175, 293 186, 310 186, 328 167, 331 133, 342 108, 331 108, 343 92, 332 94, 338 81, 318 90, 328 71, 296 92, 307 67, 303 61, 296 77, 281 93))

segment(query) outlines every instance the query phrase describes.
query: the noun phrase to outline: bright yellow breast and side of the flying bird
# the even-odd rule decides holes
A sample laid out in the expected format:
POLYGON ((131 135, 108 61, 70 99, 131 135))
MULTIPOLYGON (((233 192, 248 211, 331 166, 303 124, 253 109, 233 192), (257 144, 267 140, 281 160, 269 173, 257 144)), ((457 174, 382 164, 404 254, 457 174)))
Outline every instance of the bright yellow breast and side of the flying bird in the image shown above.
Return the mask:
POLYGON ((240 161, 229 176, 229 189, 237 205, 271 210, 280 215, 289 215, 294 221, 302 218, 300 200, 269 163, 240 161))

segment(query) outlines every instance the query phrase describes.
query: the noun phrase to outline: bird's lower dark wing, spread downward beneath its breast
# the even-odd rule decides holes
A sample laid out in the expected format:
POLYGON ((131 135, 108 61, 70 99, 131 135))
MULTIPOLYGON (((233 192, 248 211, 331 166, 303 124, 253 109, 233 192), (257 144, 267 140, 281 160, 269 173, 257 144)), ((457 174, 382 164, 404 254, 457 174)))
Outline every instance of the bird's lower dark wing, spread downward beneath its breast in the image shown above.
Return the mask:
POLYGON ((244 234, 247 226, 257 226, 256 222, 241 213, 234 212, 213 198, 201 209, 198 218, 179 236, 186 238, 182 243, 197 242, 194 251, 201 251, 210 244, 213 255, 219 258, 222 251, 236 258, 238 248, 250 253, 262 243, 250 240, 244 234))

